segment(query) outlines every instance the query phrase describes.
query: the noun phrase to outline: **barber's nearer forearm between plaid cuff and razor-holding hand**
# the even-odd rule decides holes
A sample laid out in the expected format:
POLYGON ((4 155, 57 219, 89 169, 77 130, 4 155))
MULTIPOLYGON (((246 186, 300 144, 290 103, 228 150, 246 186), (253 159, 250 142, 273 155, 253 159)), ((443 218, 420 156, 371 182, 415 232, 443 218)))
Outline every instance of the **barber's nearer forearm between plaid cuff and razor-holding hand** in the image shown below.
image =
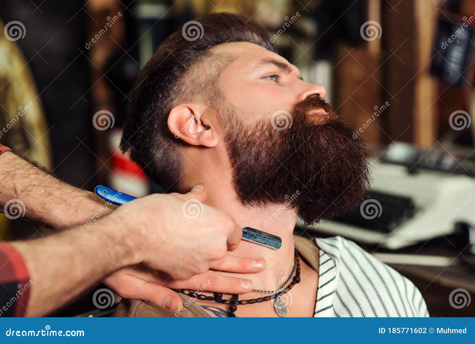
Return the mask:
POLYGON ((26 315, 47 315, 116 269, 136 263, 136 241, 110 218, 104 220, 46 239, 9 243, 19 250, 33 281, 26 315))

